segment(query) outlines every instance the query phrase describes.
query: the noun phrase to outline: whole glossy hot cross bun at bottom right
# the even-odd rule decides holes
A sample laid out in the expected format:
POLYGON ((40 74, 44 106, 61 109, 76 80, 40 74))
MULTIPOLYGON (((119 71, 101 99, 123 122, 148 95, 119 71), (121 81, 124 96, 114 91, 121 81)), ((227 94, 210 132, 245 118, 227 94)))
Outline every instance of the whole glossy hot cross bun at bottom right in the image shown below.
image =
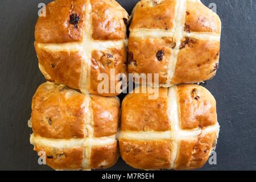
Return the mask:
MULTIPOLYGON (((138 89, 138 88, 137 88, 138 89)), ((139 169, 202 167, 216 145, 216 101, 199 85, 159 88, 159 97, 130 93, 122 102, 120 153, 139 169)))

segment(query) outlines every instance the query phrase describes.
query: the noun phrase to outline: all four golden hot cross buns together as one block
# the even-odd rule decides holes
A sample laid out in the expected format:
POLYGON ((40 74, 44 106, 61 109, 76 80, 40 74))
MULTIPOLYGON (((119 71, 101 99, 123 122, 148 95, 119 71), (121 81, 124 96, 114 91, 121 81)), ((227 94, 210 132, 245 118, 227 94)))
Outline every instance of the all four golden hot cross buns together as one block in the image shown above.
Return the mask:
POLYGON ((194 83, 216 74, 220 34, 197 0, 142 0, 131 16, 114 0, 49 3, 35 27, 47 82, 32 100, 34 150, 60 170, 112 167, 119 154, 139 169, 202 167, 219 125, 214 97, 194 83), (121 104, 123 80, 102 93, 102 73, 110 85, 112 74, 151 73, 154 88, 138 82, 121 104))

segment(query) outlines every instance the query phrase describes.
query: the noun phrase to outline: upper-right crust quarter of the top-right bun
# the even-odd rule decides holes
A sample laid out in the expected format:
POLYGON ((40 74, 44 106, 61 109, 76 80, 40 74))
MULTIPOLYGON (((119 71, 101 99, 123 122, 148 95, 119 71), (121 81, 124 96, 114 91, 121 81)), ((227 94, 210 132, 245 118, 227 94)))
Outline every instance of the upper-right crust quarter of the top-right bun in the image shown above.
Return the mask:
POLYGON ((198 1, 187 1, 185 26, 190 32, 221 33, 221 20, 218 15, 198 1))

